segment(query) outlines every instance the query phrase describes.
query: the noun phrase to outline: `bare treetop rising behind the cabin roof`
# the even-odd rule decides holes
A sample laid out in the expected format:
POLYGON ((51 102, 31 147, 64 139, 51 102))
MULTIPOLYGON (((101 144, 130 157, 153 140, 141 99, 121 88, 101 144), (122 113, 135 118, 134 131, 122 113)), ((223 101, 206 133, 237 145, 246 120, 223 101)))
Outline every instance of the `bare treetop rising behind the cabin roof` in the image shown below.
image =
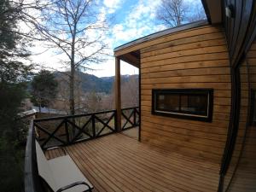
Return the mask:
POLYGON ((190 6, 184 0, 161 0, 156 11, 156 19, 168 27, 181 26, 186 22, 205 19, 204 9, 200 3, 190 6))

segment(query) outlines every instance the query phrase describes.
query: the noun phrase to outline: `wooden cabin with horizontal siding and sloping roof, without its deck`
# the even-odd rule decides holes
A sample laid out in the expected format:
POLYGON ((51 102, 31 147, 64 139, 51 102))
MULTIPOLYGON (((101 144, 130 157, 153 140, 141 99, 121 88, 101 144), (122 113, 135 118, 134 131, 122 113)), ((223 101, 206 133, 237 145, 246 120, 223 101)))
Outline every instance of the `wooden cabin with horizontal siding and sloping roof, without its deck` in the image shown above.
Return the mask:
POLYGON ((202 3, 206 21, 114 49, 116 108, 121 60, 139 68, 140 141, 217 163, 219 190, 254 191, 255 3, 202 3))

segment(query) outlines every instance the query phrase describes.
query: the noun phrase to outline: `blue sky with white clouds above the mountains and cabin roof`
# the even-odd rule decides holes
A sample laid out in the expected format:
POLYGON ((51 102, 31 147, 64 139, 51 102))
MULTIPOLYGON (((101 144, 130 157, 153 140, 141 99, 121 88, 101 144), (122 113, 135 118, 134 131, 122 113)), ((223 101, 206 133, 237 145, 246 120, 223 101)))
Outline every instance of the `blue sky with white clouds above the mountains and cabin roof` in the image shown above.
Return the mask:
MULTIPOLYGON (((102 1, 102 13, 104 17, 113 17, 108 36, 105 41, 109 46, 107 61, 100 64, 90 65, 94 70, 87 70, 85 73, 94 74, 97 77, 114 76, 113 49, 119 45, 128 43, 137 38, 142 38, 154 32, 166 29, 166 26, 156 23, 155 10, 160 0, 99 0, 102 1)), ((198 3, 200 0, 186 0, 189 3, 198 3)), ((60 57, 55 55, 55 50, 45 49, 44 44, 35 43, 32 47, 31 60, 39 66, 50 70, 66 71, 68 68, 62 66, 60 57)), ((121 74, 137 74, 138 69, 121 61, 121 74)))

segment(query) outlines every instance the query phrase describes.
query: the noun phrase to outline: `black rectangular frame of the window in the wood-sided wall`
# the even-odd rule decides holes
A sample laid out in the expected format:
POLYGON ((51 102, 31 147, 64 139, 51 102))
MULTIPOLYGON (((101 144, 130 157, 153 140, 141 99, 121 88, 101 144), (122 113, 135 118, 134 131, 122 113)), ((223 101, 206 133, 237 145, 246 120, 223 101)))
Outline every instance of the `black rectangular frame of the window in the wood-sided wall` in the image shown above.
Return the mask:
MULTIPOLYGON (((181 101, 179 101, 179 108, 181 107, 181 101)), ((213 113, 213 89, 152 89, 152 109, 151 113, 159 116, 169 116, 179 119, 193 119, 200 121, 212 122, 213 113), (180 95, 207 95, 207 115, 195 114, 195 113, 180 113, 177 111, 160 111, 156 109, 156 97, 157 94, 170 93, 180 95)))

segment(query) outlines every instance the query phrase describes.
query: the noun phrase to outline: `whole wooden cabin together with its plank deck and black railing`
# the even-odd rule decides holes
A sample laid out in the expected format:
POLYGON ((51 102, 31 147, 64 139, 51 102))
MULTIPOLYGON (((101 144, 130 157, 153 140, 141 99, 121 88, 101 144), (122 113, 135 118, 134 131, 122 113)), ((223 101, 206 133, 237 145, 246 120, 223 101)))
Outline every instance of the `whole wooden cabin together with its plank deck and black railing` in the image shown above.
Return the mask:
POLYGON ((94 192, 256 190, 256 3, 202 3, 207 20, 114 49, 114 110, 32 122, 26 192, 44 191, 36 137, 45 150, 63 146, 94 192), (120 61, 139 69, 138 108, 121 108, 120 61))

